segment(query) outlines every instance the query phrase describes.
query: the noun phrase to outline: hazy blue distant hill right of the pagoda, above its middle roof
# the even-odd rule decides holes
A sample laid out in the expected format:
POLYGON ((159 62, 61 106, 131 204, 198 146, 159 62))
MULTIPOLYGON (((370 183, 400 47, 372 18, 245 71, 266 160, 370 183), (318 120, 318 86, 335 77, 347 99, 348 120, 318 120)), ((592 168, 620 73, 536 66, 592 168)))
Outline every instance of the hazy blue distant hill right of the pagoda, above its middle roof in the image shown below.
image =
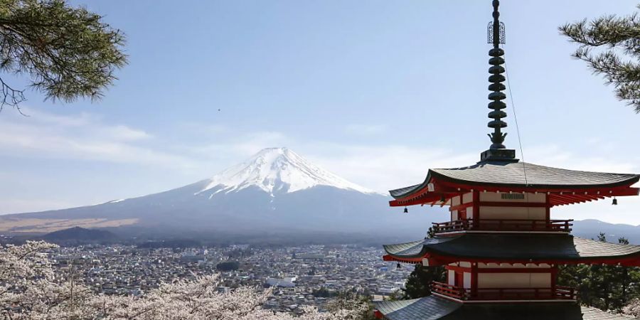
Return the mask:
POLYGON ((606 223, 600 220, 587 219, 573 222, 573 235, 580 238, 597 238, 599 233, 607 235, 607 241, 618 242, 619 238, 627 238, 634 245, 640 245, 640 226, 606 223))

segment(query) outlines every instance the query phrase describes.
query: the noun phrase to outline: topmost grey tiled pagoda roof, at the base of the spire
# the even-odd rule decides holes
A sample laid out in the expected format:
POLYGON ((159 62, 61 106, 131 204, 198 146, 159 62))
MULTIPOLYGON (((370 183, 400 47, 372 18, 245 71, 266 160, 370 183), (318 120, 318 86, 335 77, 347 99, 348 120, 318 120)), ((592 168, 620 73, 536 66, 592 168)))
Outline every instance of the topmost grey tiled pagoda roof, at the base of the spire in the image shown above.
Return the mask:
MULTIPOLYGON (((530 189, 614 188, 631 186, 639 174, 609 174, 540 166, 526 162, 481 161, 473 166, 430 169, 424 182, 389 191, 393 198, 405 198, 425 189, 435 179, 464 186, 526 187, 530 189)), ((508 191, 508 189, 504 189, 508 191)))

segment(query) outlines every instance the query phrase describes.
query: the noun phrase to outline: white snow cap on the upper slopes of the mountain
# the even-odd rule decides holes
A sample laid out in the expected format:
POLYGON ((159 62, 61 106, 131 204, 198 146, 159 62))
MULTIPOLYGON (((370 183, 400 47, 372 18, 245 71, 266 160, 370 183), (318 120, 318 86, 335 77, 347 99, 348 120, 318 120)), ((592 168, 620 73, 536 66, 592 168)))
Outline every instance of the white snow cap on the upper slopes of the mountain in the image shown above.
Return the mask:
POLYGON ((367 188, 311 164, 287 148, 262 149, 242 164, 232 166, 210 178, 207 186, 198 193, 214 188, 217 190, 213 194, 229 193, 250 186, 257 186, 271 195, 292 193, 314 186, 333 186, 362 193, 373 193, 367 188))

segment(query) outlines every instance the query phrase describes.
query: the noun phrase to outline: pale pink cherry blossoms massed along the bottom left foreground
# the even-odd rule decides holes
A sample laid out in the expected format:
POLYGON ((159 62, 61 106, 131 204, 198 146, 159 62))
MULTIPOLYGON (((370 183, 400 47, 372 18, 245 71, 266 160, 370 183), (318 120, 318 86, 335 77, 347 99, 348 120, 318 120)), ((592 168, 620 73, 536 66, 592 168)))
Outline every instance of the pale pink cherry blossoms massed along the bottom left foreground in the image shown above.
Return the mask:
POLYGON ((4 319, 100 320, 356 320, 368 305, 355 299, 329 304, 329 312, 306 307, 302 315, 263 309, 271 290, 240 287, 216 292, 218 274, 162 284, 141 297, 95 294, 81 283, 58 279, 46 242, 0 247, 0 317, 4 319))

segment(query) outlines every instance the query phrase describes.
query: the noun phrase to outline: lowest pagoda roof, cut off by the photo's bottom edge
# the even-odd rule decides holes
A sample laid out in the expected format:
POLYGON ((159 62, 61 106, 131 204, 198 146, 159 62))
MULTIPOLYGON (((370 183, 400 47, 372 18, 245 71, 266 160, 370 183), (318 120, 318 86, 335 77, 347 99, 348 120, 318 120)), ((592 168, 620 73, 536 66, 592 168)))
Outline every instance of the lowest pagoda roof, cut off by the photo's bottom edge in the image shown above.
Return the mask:
POLYGON ((575 302, 508 304, 462 304, 431 295, 420 299, 375 302, 379 314, 388 320, 629 320, 620 314, 580 306, 575 302))

